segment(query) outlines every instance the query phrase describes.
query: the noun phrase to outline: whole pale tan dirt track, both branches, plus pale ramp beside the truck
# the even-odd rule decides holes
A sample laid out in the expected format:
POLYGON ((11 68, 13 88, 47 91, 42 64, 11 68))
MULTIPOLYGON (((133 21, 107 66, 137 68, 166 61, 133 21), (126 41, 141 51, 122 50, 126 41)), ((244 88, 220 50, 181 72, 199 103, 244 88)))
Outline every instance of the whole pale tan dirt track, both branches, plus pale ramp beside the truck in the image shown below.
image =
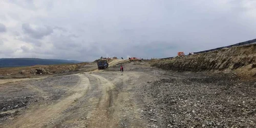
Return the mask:
MULTIPOLYGON (((110 66, 120 61, 114 60, 110 66)), ((136 103, 131 100, 133 94, 127 91, 134 87, 130 80, 138 79, 138 73, 121 76, 96 70, 75 76, 79 81, 65 96, 51 104, 32 106, 3 127, 126 127, 125 122, 143 127, 136 103)))

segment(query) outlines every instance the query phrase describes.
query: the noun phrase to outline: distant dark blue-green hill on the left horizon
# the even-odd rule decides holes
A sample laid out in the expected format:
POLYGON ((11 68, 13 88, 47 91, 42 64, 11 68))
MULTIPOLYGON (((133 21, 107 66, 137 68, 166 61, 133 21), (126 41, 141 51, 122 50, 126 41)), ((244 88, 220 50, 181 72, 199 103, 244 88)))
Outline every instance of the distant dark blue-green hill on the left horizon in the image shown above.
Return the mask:
POLYGON ((56 65, 63 63, 79 63, 77 60, 65 59, 39 59, 39 58, 0 58, 0 68, 24 67, 34 65, 56 65))

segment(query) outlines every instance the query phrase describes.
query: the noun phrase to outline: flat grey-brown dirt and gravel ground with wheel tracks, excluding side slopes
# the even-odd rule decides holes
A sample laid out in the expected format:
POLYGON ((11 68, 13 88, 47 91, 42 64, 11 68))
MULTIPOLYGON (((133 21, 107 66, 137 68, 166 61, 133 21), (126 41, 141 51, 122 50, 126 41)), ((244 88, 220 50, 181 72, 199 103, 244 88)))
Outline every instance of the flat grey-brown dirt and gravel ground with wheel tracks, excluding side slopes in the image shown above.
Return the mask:
POLYGON ((0 82, 0 127, 255 127, 255 92, 256 81, 233 75, 116 60, 104 71, 0 82))

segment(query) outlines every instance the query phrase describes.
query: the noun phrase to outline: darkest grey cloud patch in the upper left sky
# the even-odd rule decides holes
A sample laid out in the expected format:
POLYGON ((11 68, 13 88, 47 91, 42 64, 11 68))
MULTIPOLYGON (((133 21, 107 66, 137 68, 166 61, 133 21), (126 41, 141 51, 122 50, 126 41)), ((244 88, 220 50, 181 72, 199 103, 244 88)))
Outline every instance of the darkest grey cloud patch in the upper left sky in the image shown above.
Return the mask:
POLYGON ((41 39, 44 36, 50 35, 53 29, 49 26, 41 26, 32 28, 30 24, 23 24, 22 30, 24 33, 29 34, 32 38, 41 39))

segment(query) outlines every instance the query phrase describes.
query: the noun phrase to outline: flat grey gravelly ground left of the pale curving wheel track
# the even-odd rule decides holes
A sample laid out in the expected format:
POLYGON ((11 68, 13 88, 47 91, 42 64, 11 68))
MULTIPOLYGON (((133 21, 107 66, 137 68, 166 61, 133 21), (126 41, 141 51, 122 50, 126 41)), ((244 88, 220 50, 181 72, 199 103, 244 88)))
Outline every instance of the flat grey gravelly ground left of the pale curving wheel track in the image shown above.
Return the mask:
POLYGON ((30 104, 50 104, 60 99, 78 81, 76 75, 65 75, 0 84, 0 123, 30 104))

